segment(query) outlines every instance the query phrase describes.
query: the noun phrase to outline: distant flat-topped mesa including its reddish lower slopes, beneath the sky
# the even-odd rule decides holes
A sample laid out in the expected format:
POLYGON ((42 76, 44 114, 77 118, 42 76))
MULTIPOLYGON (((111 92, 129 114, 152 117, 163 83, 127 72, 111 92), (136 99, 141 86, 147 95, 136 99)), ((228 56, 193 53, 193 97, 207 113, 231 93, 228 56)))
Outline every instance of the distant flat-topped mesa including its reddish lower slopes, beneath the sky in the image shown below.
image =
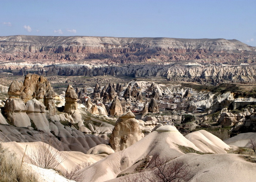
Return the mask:
POLYGON ((255 61, 255 48, 238 40, 166 37, 2 36, 0 60, 67 62, 99 59, 103 63, 218 59, 255 61))

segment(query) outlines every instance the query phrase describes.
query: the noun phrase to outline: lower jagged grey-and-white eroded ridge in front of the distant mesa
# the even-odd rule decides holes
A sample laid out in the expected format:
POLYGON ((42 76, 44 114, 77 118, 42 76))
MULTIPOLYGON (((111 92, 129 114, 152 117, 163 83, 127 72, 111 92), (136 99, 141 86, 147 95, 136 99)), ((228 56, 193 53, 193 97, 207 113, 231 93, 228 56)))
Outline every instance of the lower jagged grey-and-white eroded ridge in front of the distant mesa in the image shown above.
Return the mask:
MULTIPOLYGON (((122 67, 106 66, 91 68, 87 66, 54 65, 44 67, 43 75, 53 76, 104 76, 125 75, 132 77, 164 76, 169 80, 187 82, 221 83, 223 80, 255 81, 256 65, 254 64, 127 64, 122 67)), ((41 69, 42 71, 42 69, 41 69)))

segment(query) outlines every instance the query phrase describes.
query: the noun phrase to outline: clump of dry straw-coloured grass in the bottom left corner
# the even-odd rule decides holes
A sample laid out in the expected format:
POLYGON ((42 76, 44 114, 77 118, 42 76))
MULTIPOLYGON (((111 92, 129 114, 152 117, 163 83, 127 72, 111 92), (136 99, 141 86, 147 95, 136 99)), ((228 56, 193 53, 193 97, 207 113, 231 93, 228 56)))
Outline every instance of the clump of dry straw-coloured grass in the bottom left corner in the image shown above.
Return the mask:
POLYGON ((15 153, 4 149, 0 143, 0 182, 34 182, 37 177, 23 170, 15 153))

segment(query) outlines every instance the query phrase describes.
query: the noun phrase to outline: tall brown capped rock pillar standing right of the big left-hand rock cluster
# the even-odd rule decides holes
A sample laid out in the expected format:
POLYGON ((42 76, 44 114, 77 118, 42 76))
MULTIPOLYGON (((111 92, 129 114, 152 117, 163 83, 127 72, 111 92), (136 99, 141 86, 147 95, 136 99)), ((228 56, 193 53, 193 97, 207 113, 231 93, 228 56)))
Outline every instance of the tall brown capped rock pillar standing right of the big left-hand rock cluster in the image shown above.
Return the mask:
POLYGON ((77 98, 76 91, 72 85, 69 84, 65 92, 64 112, 72 114, 72 112, 78 108, 77 98))

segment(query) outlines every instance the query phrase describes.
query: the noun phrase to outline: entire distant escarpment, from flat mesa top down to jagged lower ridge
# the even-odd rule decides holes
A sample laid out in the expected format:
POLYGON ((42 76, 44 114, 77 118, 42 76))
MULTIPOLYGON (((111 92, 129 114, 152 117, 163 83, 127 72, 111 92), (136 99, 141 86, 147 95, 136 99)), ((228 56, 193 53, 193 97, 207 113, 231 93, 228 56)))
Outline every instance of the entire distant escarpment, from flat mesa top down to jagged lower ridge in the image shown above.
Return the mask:
POLYGON ((255 48, 234 39, 0 37, 0 68, 19 74, 164 76, 218 84, 254 81, 255 60, 255 48))

